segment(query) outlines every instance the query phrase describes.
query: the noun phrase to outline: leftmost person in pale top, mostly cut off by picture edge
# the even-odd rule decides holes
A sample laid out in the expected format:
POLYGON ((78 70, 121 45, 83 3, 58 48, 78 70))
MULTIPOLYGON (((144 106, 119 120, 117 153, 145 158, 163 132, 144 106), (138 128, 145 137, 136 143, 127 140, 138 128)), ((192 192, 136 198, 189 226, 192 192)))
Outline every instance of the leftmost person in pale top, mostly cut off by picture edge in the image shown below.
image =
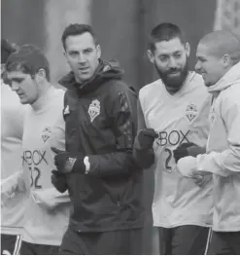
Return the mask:
POLYGON ((8 178, 21 166, 24 110, 17 94, 3 81, 7 58, 15 51, 7 40, 1 40, 1 254, 18 253, 24 214, 24 193, 18 191, 14 197, 6 193, 11 186, 8 178))

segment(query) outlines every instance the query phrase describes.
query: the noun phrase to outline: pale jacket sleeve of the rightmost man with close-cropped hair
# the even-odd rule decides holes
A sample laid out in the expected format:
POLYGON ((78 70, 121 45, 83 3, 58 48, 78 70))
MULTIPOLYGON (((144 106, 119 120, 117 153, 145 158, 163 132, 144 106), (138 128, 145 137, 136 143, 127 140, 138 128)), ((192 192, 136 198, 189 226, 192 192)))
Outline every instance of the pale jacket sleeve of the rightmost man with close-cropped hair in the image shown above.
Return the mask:
POLYGON ((199 171, 212 172, 223 177, 240 173, 240 103, 239 99, 235 102, 230 100, 232 99, 227 100, 229 104, 227 111, 222 113, 228 134, 228 149, 221 153, 213 151, 197 156, 196 167, 199 171))

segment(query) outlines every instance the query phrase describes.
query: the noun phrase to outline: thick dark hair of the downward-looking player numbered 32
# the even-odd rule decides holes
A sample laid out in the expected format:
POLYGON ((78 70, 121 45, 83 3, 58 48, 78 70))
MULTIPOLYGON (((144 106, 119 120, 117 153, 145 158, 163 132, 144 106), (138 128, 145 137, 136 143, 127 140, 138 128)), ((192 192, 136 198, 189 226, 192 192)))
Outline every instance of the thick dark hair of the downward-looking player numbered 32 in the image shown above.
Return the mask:
POLYGON ((50 63, 43 51, 33 45, 23 45, 16 53, 10 55, 6 63, 8 72, 21 71, 35 77, 36 73, 43 68, 46 78, 50 81, 50 63))

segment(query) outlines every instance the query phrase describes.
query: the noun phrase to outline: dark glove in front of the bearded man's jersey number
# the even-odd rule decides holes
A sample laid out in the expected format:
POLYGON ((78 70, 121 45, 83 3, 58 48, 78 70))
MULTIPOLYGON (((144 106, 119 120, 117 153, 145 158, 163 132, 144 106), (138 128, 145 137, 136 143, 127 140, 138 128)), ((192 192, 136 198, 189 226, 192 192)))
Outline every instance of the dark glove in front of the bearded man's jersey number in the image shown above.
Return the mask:
POLYGON ((175 162, 178 163, 178 161, 182 158, 191 156, 196 157, 199 154, 204 154, 206 152, 205 148, 199 147, 198 145, 189 142, 189 143, 183 143, 179 145, 174 151, 173 156, 175 159, 175 162))

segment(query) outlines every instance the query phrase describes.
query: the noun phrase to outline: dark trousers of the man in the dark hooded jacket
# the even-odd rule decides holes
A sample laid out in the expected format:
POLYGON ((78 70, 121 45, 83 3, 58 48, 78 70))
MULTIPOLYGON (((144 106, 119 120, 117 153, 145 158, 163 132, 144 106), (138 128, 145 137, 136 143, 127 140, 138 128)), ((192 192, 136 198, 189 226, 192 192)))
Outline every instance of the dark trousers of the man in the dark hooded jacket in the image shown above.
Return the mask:
POLYGON ((141 254, 142 231, 78 233, 68 229, 62 239, 59 254, 141 254))

